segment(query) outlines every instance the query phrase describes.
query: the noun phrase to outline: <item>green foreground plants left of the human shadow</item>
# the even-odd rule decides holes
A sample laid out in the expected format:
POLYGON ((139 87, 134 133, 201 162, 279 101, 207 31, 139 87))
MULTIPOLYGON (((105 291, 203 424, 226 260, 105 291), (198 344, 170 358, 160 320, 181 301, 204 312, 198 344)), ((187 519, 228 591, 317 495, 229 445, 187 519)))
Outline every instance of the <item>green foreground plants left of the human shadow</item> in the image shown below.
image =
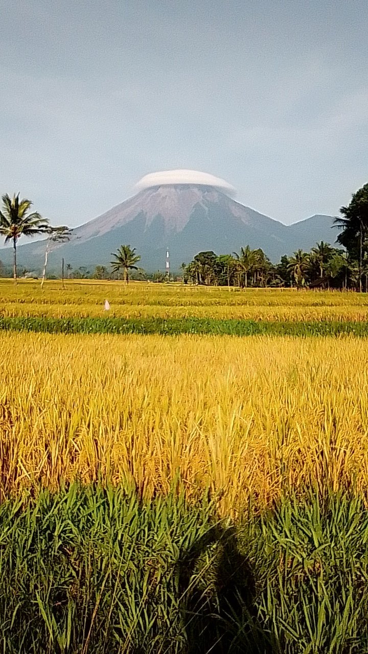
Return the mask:
POLYGON ((15 653, 181 652, 177 564, 206 504, 77 485, 0 508, 0 642, 15 653))

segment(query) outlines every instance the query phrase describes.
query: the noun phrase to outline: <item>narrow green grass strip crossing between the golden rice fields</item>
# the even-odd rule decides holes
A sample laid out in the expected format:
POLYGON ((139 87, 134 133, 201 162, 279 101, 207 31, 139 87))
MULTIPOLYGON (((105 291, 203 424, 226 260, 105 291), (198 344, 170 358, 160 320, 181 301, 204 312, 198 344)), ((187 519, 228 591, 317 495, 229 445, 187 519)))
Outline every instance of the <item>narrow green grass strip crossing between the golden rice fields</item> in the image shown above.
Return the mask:
POLYGON ((368 322, 282 322, 215 318, 0 317, 0 330, 51 334, 213 334, 230 336, 368 336, 368 322))

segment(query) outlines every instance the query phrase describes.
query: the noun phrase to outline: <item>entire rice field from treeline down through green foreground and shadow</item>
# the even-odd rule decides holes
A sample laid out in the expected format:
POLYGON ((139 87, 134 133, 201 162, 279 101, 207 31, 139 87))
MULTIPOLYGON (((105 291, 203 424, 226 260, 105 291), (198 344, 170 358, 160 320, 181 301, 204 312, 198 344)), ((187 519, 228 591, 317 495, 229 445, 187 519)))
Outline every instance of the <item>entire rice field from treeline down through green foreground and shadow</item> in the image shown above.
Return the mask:
POLYGON ((365 294, 0 290, 4 651, 367 651, 365 294))

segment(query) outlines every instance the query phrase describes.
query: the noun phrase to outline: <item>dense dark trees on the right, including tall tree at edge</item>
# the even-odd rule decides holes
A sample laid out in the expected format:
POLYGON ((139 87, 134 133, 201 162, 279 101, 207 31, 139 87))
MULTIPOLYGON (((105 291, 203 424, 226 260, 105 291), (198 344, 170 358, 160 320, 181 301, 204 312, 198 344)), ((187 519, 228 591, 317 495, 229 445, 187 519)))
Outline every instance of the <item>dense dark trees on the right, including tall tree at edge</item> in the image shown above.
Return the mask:
POLYGON ((337 243, 344 249, 321 241, 310 252, 297 250, 272 264, 261 249, 249 245, 240 254, 217 256, 200 252, 188 266, 184 279, 196 284, 229 286, 297 286, 340 288, 368 292, 368 184, 353 194, 350 204, 341 207, 335 219, 337 243))

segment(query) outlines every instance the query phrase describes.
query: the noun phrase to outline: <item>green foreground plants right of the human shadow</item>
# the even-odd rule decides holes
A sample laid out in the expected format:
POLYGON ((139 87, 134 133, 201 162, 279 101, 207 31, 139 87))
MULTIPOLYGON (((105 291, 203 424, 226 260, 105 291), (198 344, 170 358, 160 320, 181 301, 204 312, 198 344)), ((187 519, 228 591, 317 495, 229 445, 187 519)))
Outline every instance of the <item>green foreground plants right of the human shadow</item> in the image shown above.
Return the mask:
POLYGON ((258 619, 281 653, 368 647, 368 514, 361 500, 325 491, 282 500, 261 519, 258 619), (265 574, 267 570, 267 574, 265 574))

